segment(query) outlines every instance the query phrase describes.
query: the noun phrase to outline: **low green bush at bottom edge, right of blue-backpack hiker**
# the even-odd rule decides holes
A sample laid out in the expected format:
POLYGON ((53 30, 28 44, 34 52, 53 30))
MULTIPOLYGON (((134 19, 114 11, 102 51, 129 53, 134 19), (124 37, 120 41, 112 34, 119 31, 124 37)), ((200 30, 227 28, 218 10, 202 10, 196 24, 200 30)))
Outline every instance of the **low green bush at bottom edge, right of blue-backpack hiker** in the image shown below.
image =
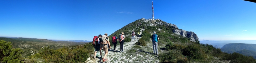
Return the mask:
POLYGON ((159 54, 159 60, 160 62, 174 62, 174 63, 188 63, 186 57, 184 57, 180 50, 173 49, 169 50, 165 53, 159 54))

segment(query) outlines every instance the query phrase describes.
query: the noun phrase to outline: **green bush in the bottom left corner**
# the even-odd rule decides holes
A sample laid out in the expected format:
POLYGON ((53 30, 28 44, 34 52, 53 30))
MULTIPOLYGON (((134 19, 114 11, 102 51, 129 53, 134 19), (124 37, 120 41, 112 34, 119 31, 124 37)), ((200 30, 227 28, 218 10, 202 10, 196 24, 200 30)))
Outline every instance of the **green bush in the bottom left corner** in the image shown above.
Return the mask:
POLYGON ((13 49, 11 42, 0 41, 0 63, 24 63, 23 50, 13 49))

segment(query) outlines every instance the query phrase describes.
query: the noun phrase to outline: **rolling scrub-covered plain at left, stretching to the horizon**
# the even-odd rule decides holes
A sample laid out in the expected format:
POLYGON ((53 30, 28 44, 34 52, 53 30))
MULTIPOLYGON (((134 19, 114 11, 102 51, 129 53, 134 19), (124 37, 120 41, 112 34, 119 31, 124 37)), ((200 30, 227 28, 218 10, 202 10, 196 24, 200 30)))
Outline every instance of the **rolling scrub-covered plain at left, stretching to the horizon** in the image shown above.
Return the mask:
POLYGON ((0 40, 12 42, 14 48, 20 48, 24 51, 22 56, 30 56, 37 53, 42 47, 50 46, 51 49, 62 48, 63 46, 74 46, 84 44, 85 42, 71 42, 71 41, 52 41, 47 39, 37 38, 6 38, 0 37, 0 40))

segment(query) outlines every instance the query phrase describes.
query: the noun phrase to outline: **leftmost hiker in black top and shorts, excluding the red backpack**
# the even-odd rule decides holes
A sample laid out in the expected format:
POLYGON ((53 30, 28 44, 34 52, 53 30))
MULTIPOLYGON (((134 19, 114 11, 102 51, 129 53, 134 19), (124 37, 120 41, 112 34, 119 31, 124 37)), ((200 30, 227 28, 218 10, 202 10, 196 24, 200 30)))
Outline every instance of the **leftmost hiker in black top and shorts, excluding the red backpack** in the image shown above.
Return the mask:
MULTIPOLYGON (((95 52, 94 52, 94 58, 96 58, 97 51, 100 51, 100 54, 101 54, 100 48, 101 48, 101 42, 103 42, 103 41, 102 41, 102 38, 101 38, 102 35, 100 34, 98 37, 99 37, 98 43, 96 43, 96 44, 95 44, 95 47, 94 47, 94 50, 95 50, 95 52)), ((102 54, 101 54, 101 57, 102 57, 102 54)))

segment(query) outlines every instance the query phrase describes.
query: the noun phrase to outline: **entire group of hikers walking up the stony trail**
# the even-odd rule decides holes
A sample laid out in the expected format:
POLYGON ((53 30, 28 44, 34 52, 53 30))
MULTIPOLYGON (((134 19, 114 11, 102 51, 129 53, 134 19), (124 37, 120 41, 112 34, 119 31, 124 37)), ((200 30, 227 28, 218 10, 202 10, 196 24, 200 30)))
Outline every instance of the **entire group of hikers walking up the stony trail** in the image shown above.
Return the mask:
MULTIPOLYGON (((157 40, 159 40, 159 38, 156 35, 155 31, 153 33, 154 33, 152 35, 153 51, 154 51, 155 55, 158 55, 158 50, 157 50, 157 42, 158 41, 157 40)), ((139 32, 138 32, 137 36, 139 37, 139 32)), ((124 32, 120 33, 119 37, 117 37, 117 35, 114 35, 112 37, 112 43, 114 44, 114 52, 116 51, 117 41, 119 41, 119 43, 120 43, 120 52, 124 51, 124 42, 125 42, 124 39, 125 39, 124 32)), ((134 40, 135 40, 135 32, 133 31, 132 32, 132 41, 134 41, 134 40)), ((108 54, 108 48, 109 49, 111 48, 109 37, 107 37, 107 33, 105 33, 103 36, 101 34, 98 37, 94 36, 93 45, 94 45, 94 49, 95 49, 94 58, 96 58, 97 51, 100 51, 100 55, 101 55, 101 58, 102 58, 103 62, 107 61, 106 57, 107 57, 107 54, 108 54), (102 54, 101 54, 102 48, 103 48, 103 51, 105 52, 104 57, 102 57, 102 54)))

